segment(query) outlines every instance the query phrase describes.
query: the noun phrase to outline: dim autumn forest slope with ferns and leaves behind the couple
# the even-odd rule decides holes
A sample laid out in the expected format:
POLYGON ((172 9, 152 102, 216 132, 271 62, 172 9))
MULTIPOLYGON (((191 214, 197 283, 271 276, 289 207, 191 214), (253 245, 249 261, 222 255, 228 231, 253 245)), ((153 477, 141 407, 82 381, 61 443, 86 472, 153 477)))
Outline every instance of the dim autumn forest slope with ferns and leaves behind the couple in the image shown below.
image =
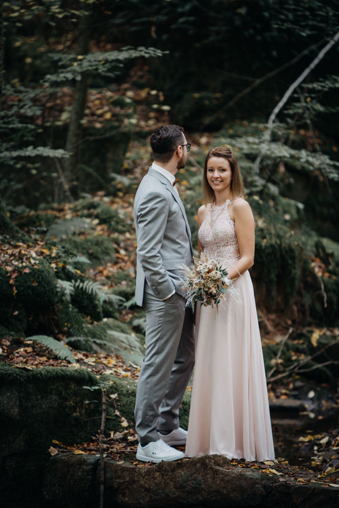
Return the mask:
MULTIPOLYGON (((338 2, 1 5, 5 378, 8 366, 68 364, 137 377, 133 197, 151 132, 176 123, 192 143, 179 192, 194 247, 205 155, 228 144, 238 158, 271 399, 306 399, 310 418, 335 407, 338 2)), ((133 434, 131 407, 114 418, 133 434)))

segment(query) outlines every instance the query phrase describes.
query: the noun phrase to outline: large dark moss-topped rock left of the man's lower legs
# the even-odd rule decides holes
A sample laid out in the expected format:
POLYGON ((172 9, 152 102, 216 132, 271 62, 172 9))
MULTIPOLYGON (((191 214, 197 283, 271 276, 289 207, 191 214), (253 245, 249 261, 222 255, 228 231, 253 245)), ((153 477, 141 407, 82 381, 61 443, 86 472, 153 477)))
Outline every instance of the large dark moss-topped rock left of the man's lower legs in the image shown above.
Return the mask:
MULTIPOLYGON (((115 405, 134 424, 135 381, 112 375, 102 380, 111 382, 108 394, 118 394, 115 405)), ((99 387, 98 378, 85 368, 24 370, 0 363, 1 458, 46 451, 52 439, 65 444, 90 440, 100 428, 102 392, 85 387, 95 386, 99 387)), ((115 406, 109 402, 107 417, 108 433, 122 430, 115 406)))

